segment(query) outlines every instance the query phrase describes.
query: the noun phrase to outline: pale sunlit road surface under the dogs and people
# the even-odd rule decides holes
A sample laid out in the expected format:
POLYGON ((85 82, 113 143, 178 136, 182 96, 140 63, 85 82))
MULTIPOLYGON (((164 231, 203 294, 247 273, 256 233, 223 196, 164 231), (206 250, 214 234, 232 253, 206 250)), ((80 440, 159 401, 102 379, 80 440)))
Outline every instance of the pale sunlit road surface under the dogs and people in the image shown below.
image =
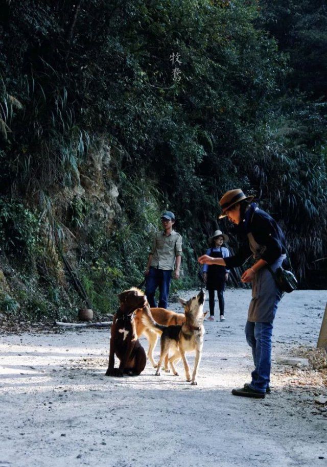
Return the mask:
POLYGON ((0 467, 327 466, 327 417, 314 402, 327 392, 321 373, 275 361, 316 346, 327 291, 283 298, 264 400, 230 393, 252 369, 250 291, 225 300, 226 321, 205 321, 198 386, 181 363, 179 377, 155 377, 149 362, 139 377, 105 377, 108 329, 1 333, 0 467))

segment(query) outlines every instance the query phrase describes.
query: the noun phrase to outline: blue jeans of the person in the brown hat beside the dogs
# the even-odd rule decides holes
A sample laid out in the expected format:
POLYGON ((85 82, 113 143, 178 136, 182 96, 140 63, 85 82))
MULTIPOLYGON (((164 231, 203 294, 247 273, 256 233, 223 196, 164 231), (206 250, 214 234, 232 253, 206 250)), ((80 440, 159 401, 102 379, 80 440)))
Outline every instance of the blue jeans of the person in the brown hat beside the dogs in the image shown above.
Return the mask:
MULTIPOLYGON (((273 311, 274 317, 279 300, 281 300, 281 294, 278 292, 273 311)), ((246 341, 252 348, 254 362, 250 387, 264 393, 270 383, 272 329, 273 321, 262 323, 247 321, 245 325, 246 341)))

